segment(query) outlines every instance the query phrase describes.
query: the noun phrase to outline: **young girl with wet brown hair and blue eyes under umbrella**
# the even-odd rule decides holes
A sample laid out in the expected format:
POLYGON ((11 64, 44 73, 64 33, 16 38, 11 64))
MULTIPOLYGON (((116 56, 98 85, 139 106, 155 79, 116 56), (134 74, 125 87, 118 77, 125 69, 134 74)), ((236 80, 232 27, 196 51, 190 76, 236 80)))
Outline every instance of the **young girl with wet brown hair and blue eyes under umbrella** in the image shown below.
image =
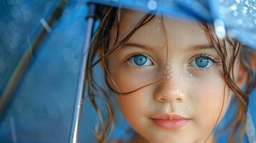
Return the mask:
POLYGON ((160 12, 100 7, 101 23, 87 58, 87 94, 100 117, 98 142, 113 126, 113 100, 136 134, 130 142, 214 142, 214 128, 234 97, 229 142, 245 133, 248 97, 255 88, 255 50, 211 24, 160 12), (95 82, 101 64, 108 94, 95 82), (242 86, 245 86, 242 90, 242 86), (95 97, 108 107, 103 119, 95 97))

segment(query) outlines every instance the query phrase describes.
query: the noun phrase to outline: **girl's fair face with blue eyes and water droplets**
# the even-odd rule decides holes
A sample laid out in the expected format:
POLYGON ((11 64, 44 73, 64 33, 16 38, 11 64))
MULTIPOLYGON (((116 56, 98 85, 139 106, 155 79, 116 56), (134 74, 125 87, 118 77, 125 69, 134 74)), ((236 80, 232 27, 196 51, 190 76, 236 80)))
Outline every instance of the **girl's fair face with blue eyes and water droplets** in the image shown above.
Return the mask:
MULTIPOLYGON (((144 15, 123 11, 118 41, 144 15)), ((231 92, 225 89, 221 59, 209 45, 198 21, 156 16, 108 57, 110 87, 129 92, 118 94, 120 109, 148 142, 205 142, 209 135, 212 142, 231 92)))

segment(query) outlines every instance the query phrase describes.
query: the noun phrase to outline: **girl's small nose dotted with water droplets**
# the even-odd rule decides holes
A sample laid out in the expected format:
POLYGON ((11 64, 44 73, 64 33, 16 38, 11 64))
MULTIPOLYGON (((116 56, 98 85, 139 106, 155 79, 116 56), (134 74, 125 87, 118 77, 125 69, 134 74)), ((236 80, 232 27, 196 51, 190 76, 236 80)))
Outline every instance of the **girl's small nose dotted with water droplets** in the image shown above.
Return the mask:
POLYGON ((158 102, 184 102, 185 79, 179 74, 163 77, 155 89, 154 99, 158 102))

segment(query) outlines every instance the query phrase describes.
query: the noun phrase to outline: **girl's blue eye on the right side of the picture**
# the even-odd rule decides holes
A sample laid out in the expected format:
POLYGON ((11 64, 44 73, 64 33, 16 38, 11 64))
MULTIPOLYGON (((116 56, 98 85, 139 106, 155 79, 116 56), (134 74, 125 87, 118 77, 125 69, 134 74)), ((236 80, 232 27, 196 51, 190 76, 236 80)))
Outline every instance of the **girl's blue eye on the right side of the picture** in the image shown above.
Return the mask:
POLYGON ((196 66, 199 68, 207 68, 214 64, 213 60, 208 56, 198 56, 196 59, 192 61, 192 66, 196 66))

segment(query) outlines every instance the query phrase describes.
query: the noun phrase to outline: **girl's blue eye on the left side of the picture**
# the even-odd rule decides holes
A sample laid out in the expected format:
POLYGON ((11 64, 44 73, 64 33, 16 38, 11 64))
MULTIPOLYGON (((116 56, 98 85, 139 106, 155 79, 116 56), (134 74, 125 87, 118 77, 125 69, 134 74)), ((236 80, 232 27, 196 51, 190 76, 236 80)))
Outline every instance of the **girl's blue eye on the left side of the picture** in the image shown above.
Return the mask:
POLYGON ((151 66, 153 65, 153 62, 151 59, 148 58, 148 56, 145 56, 143 54, 136 54, 134 56, 131 56, 131 58, 128 60, 130 64, 133 64, 134 66, 151 66))

